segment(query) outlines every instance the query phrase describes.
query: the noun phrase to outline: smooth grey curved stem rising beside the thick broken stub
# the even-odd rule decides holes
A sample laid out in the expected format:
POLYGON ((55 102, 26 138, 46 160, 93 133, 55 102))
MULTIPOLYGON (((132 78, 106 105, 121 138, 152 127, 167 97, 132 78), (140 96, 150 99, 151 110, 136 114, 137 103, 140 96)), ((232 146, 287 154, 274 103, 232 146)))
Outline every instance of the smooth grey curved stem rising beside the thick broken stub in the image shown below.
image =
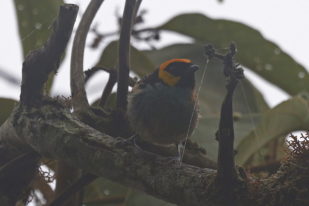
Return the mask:
POLYGON ((73 107, 75 110, 89 107, 83 73, 84 49, 90 25, 103 1, 104 0, 92 0, 89 3, 74 37, 70 70, 71 96, 75 97, 79 90, 81 90, 79 94, 80 100, 73 100, 73 107))

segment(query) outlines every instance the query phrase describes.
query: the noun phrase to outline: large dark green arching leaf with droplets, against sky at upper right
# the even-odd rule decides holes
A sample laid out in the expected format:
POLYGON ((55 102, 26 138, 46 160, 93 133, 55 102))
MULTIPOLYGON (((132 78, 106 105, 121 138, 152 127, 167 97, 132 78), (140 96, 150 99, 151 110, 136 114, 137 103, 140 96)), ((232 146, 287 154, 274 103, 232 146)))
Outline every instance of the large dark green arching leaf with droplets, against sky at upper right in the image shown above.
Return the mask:
POLYGON ((214 20, 202 14, 181 14, 158 29, 191 36, 201 45, 211 43, 216 49, 235 41, 237 62, 291 95, 309 90, 309 74, 306 69, 276 44, 264 39, 260 32, 242 23, 214 20))

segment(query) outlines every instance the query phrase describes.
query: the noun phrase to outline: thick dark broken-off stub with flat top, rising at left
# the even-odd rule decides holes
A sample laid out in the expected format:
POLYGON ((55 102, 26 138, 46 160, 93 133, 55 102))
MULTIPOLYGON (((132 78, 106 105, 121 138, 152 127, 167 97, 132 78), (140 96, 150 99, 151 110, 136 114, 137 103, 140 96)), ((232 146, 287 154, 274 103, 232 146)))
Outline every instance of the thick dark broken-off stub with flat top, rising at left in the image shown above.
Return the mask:
POLYGON ((71 37, 78 6, 63 4, 53 20, 53 31, 44 46, 29 51, 23 62, 20 100, 23 103, 40 101, 43 87, 51 72, 56 73, 62 53, 71 37))

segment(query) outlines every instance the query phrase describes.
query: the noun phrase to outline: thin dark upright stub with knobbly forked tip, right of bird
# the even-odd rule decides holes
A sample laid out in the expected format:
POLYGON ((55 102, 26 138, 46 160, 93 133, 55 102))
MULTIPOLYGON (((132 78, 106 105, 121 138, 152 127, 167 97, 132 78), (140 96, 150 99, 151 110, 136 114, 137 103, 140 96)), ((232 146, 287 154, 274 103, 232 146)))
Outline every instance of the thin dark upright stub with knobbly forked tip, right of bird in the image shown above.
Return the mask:
MULTIPOLYGON (((234 42, 231 42, 230 52, 227 52, 225 55, 216 53, 211 44, 207 44, 204 47, 204 52, 208 59, 215 57, 223 60, 223 74, 229 77, 227 80, 228 83, 226 84, 227 92, 221 106, 219 130, 216 133, 216 139, 219 142, 218 184, 222 186, 221 192, 231 194, 232 189, 237 187, 239 182, 239 173, 235 166, 233 94, 239 80, 244 77, 243 69, 238 68, 239 64, 235 64, 233 56, 237 50, 234 42)), ((227 196, 227 198, 231 198, 230 200, 233 202, 233 195, 227 196)))

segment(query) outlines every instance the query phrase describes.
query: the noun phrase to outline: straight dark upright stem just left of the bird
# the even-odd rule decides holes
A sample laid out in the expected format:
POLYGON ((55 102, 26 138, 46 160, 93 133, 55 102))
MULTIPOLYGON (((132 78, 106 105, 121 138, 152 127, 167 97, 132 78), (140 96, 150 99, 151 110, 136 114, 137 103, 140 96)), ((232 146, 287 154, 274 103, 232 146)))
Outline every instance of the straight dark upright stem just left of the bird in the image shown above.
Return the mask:
POLYGON ((124 111, 127 108, 127 94, 130 73, 130 39, 133 23, 133 13, 136 0, 126 0, 123 12, 120 36, 118 42, 118 80, 116 94, 116 108, 124 111))

